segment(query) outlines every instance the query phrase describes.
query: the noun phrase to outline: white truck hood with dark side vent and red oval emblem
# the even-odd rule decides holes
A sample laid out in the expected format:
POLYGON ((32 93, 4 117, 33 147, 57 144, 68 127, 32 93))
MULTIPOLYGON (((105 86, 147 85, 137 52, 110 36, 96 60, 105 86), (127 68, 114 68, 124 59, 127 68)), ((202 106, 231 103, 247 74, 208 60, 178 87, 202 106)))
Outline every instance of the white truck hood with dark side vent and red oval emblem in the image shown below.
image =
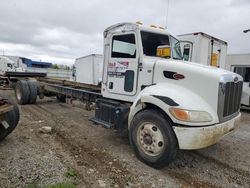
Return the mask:
MULTIPOLYGON (((172 59, 154 59, 154 84, 168 83, 183 87, 203 98, 213 109, 218 106, 219 83, 235 81, 242 81, 242 77, 217 67, 172 59)), ((193 100, 190 99, 190 103, 193 100)))

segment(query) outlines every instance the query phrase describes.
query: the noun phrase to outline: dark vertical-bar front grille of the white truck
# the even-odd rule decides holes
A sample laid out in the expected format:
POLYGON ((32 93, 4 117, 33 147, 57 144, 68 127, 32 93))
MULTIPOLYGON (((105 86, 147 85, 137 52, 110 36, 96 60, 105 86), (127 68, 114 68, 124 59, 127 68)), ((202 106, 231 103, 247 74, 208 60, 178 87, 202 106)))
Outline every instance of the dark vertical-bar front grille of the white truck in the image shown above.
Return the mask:
POLYGON ((220 121, 239 111, 243 82, 220 83, 218 115, 220 121))

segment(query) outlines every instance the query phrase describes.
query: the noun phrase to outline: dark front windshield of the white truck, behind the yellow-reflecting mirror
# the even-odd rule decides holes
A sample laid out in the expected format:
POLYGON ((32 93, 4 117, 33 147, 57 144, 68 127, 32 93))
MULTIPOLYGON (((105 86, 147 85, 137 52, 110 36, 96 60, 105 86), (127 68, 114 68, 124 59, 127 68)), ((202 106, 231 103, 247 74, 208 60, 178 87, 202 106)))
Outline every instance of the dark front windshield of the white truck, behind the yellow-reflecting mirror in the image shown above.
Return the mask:
POLYGON ((159 46, 171 46, 172 58, 182 59, 180 42, 174 37, 159 33, 151 33, 147 31, 141 31, 143 54, 146 56, 157 56, 157 48, 159 46))

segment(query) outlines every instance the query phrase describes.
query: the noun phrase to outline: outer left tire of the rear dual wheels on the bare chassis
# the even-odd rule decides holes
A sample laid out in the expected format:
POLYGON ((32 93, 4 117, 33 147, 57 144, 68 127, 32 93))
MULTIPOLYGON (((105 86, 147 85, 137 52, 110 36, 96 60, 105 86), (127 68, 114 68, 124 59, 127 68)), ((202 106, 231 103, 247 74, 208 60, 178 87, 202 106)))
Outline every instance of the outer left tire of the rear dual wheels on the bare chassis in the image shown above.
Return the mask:
POLYGON ((28 104, 30 98, 30 89, 28 82, 26 80, 19 80, 16 83, 15 95, 18 104, 21 105, 28 104))

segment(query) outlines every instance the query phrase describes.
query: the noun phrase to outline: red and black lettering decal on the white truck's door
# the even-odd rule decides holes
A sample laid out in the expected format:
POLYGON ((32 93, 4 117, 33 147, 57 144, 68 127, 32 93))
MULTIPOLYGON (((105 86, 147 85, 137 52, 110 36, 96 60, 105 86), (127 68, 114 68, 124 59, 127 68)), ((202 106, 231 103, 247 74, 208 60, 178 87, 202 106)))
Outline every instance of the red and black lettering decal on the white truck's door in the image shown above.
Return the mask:
POLYGON ((117 61, 108 64, 108 75, 109 76, 124 76, 125 72, 128 70, 128 61, 117 61))

